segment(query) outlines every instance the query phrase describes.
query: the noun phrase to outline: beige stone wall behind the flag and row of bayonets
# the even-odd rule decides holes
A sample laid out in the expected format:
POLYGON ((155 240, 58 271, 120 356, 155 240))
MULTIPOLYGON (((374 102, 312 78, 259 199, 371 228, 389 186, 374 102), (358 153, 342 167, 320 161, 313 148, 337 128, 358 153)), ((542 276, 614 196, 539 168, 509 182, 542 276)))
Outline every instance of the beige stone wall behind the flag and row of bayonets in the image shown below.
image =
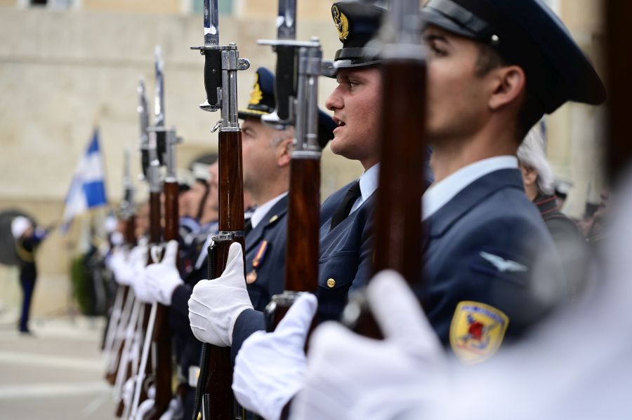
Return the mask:
MULTIPOLYGON (((321 36, 324 55, 331 57, 338 41, 333 25, 327 24, 301 22, 298 38, 321 36)), ((124 147, 138 147, 136 86, 143 77, 153 102, 157 44, 165 62, 166 123, 176 126, 184 139, 178 146, 179 165, 216 151, 216 134, 209 129, 219 115, 197 106, 204 100, 204 59, 190 50, 202 43, 202 34, 199 15, 0 7, 0 36, 8 40, 0 44, 0 211, 22 208, 43 224, 59 222, 75 165, 95 126, 100 129, 107 194, 110 202, 119 201, 124 147)), ((239 74, 239 103, 245 106, 256 67, 275 63, 270 47, 256 45, 259 38, 275 37, 272 20, 223 17, 220 37, 237 42, 242 57, 252 62, 251 69, 239 74)), ((321 79, 321 106, 334 83, 321 79)), ((133 173, 140 172, 139 162, 135 153, 133 173)), ((322 196, 361 170, 358 163, 325 151, 322 196)), ((136 182, 136 187, 142 199, 145 186, 136 182)), ((46 278, 65 276, 76 242, 73 231, 65 237, 55 231, 44 243, 36 297, 48 295, 53 283, 55 293, 59 287, 67 289, 67 281, 47 283, 46 278)), ((54 310, 55 305, 55 299, 38 298, 34 310, 54 310)))

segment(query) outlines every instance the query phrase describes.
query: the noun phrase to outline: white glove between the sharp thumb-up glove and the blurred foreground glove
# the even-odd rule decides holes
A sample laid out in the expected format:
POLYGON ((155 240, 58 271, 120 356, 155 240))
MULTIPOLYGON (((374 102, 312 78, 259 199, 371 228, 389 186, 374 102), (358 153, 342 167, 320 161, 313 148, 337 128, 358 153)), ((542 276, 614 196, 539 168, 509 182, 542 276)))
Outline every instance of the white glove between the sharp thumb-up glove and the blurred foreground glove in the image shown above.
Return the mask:
POLYGON ((239 404, 266 420, 280 418, 305 381, 305 339, 317 306, 313 294, 301 294, 274 332, 257 331, 244 341, 232 373, 239 404))

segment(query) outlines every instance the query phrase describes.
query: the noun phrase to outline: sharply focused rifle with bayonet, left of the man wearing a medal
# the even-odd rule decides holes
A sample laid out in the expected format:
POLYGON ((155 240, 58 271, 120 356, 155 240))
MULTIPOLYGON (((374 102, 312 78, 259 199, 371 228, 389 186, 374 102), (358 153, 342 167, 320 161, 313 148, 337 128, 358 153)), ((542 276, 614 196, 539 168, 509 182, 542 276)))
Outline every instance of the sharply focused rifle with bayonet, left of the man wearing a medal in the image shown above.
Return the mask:
MULTIPOLYGON (((204 0, 204 46, 192 47, 204 55, 204 111, 221 109, 219 129, 219 233, 209 247, 209 278, 223 273, 233 242, 244 247, 244 185, 242 176, 242 133, 237 119, 237 71, 250 67, 239 58, 235 43, 219 44, 217 0, 204 0)), ((245 273, 244 273, 245 276, 245 273)), ((212 280, 211 280, 212 281, 212 280)), ((243 409, 232 395, 230 348, 203 344, 197 383, 194 420, 202 405, 204 419, 242 419, 243 409)))

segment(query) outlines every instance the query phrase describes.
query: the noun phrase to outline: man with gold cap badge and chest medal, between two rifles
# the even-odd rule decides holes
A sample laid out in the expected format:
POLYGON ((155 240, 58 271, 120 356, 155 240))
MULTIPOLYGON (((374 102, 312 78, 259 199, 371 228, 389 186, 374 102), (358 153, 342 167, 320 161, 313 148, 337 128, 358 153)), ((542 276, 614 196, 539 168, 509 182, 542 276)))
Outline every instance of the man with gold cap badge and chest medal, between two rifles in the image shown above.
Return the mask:
MULTIPOLYGON (((275 76, 259 67, 246 109, 239 110, 242 123, 244 191, 257 207, 246 227, 246 283, 257 311, 283 291, 287 232, 287 191, 294 130, 266 126, 261 116, 275 108, 275 76)), ((333 137, 334 122, 319 112, 319 142, 324 148, 333 137)))

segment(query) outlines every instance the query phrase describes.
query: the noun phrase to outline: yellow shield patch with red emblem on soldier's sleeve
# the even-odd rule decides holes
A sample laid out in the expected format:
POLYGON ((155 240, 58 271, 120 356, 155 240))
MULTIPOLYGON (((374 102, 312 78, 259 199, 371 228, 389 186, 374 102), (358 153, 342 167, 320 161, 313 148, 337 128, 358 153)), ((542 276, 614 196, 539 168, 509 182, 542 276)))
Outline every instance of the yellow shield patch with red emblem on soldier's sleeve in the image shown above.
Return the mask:
POLYGON ((493 306, 460 302, 450 324, 450 346, 462 363, 489 359, 503 342, 509 318, 493 306))

